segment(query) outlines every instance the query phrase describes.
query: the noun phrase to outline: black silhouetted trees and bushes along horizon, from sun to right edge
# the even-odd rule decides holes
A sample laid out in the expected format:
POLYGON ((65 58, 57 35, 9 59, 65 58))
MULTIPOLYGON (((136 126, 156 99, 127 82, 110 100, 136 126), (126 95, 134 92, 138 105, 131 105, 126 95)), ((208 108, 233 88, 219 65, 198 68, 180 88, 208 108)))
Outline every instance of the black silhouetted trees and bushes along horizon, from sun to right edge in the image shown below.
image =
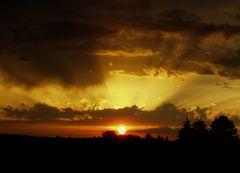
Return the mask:
MULTIPOLYGON (((239 136, 237 134, 237 127, 234 122, 231 121, 227 116, 220 115, 215 117, 212 123, 208 126, 205 121, 201 119, 195 120, 193 123, 190 122, 189 118, 183 122, 182 127, 178 131, 177 139, 175 142, 188 143, 188 144, 207 144, 207 143, 219 143, 219 144, 230 144, 238 143, 239 136)), ((115 131, 105 131, 102 134, 104 139, 118 140, 128 139, 137 140, 139 136, 125 135, 118 136, 115 131)), ((146 134, 146 141, 168 141, 168 138, 163 138, 160 135, 157 138, 146 134)))

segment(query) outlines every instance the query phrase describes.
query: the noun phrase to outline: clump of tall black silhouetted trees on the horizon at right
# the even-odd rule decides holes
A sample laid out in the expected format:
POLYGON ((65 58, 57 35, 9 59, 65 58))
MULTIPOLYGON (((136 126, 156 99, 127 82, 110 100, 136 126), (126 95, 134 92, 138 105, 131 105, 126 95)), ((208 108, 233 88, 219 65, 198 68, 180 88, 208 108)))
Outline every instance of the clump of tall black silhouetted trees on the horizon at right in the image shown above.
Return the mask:
POLYGON ((177 140, 184 143, 235 143, 239 141, 237 127, 227 116, 215 117, 210 126, 203 120, 191 124, 189 119, 183 122, 177 140))

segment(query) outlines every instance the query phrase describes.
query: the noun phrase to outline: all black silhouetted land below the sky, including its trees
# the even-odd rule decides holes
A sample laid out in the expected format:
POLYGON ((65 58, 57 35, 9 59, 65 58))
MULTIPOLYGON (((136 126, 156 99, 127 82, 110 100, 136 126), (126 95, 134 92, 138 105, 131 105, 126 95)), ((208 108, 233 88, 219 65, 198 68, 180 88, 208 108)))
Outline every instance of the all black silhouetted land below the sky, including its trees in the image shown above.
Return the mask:
MULTIPOLYGON (((36 172, 46 166, 67 167, 66 172, 239 172, 240 139, 233 121, 219 116, 207 128, 188 118, 177 140, 105 131, 98 138, 0 135, 0 163, 36 172), (20 166, 16 166, 20 165, 20 166), (132 171, 129 171, 129 168, 132 171), (84 171, 83 171, 84 170, 84 171), (97 170, 97 171, 96 171, 97 170), (154 171, 153 171, 154 170, 154 171), (164 171, 163 171, 164 170, 164 171)), ((9 171, 7 171, 9 172, 9 171)), ((11 172, 11 171, 10 171, 11 172)), ((22 172, 22 171, 21 171, 22 172)), ((45 169, 41 172, 49 172, 45 169)))

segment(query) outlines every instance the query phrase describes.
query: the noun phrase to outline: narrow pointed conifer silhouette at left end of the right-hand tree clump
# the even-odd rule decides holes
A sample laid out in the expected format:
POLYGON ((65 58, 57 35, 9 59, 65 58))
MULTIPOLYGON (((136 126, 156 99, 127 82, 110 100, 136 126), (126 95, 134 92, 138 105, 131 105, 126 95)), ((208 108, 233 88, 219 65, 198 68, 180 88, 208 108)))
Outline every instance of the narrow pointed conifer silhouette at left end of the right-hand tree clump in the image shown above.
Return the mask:
POLYGON ((192 143, 195 140, 195 131, 191 126, 191 122, 187 118, 186 121, 183 122, 183 127, 178 132, 178 141, 184 143, 192 143))

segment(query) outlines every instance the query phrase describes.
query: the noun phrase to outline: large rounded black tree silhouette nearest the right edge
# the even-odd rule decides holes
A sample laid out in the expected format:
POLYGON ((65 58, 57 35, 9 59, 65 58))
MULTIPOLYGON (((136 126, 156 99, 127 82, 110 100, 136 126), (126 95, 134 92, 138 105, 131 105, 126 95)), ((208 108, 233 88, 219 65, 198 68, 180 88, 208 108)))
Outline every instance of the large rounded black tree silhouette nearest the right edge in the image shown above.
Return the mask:
POLYGON ((216 142, 229 143, 238 139, 237 128, 233 121, 224 115, 216 117, 210 127, 211 136, 216 142))

